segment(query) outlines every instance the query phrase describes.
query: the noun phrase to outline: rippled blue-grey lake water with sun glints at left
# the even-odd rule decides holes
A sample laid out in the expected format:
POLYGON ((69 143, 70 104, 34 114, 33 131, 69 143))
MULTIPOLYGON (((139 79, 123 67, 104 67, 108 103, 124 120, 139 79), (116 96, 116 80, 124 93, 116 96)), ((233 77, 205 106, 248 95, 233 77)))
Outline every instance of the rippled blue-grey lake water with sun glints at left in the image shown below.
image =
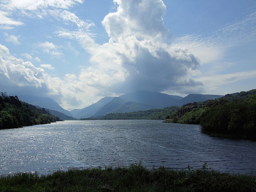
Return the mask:
POLYGON ((70 120, 0 130, 0 174, 129 166, 192 166, 256 175, 256 142, 210 137, 160 120, 70 120))

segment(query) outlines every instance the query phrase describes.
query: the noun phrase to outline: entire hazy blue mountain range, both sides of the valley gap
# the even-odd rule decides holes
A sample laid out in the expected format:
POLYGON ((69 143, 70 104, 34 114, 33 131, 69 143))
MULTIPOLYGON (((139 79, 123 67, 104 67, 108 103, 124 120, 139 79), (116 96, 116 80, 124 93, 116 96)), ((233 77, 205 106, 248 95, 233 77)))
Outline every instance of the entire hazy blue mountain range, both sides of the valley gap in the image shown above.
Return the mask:
MULTIPOLYGON (((14 94, 15 95, 15 94, 14 94)), ((18 98, 27 103, 49 110, 52 115, 61 116, 62 119, 76 119, 99 117, 109 113, 125 113, 143 111, 148 109, 161 109, 167 106, 182 106, 189 102, 217 99, 223 95, 190 94, 186 97, 168 95, 160 92, 137 91, 127 93, 119 97, 104 97, 98 102, 83 109, 67 111, 51 98, 17 95, 18 98), (61 115, 63 114, 63 115, 61 115), (64 115, 65 114, 65 115, 64 115)))

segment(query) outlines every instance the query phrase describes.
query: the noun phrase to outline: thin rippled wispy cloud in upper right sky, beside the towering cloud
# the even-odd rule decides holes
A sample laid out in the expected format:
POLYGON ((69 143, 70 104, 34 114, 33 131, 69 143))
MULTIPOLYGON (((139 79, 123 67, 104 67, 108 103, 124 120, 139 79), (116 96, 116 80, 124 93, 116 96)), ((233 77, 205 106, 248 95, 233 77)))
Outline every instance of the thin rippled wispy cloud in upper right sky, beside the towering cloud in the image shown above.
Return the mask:
POLYGON ((256 11, 253 11, 237 23, 216 31, 178 37, 172 46, 187 48, 199 58, 201 65, 206 65, 222 60, 229 48, 255 40, 256 11))

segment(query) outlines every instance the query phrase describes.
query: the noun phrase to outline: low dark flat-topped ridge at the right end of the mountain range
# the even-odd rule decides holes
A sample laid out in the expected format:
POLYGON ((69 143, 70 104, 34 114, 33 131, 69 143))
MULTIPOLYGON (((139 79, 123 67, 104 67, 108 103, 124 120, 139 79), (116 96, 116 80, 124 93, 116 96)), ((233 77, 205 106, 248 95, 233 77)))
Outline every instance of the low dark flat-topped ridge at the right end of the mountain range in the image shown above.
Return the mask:
POLYGON ((200 101, 206 101, 209 99, 218 99, 223 95, 202 95, 202 94, 189 94, 188 96, 179 100, 180 106, 187 103, 194 103, 200 101))

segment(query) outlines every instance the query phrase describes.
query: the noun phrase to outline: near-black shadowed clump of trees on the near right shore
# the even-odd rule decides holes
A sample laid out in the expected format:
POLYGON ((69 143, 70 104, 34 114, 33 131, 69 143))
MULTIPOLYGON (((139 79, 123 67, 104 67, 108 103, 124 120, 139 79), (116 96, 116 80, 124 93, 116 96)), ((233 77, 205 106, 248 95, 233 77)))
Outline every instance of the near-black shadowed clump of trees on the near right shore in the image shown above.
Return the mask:
POLYGON ((200 125, 204 132, 256 140, 256 95, 205 110, 200 125))

